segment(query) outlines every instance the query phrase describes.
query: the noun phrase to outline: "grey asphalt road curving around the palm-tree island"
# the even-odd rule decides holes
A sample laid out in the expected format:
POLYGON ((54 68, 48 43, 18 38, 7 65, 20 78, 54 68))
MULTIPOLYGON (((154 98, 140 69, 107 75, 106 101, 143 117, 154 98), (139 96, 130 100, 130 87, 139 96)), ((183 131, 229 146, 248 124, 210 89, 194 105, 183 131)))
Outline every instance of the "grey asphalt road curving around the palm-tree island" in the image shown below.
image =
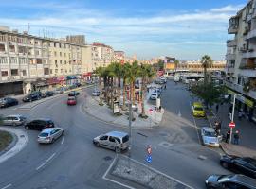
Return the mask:
MULTIPOLYGON (((82 112, 82 103, 90 93, 91 89, 83 90, 78 105, 73 107, 66 106, 66 96, 60 95, 31 110, 19 109, 19 106, 1 110, 6 115, 21 113, 29 119, 51 118, 65 133, 52 145, 39 145, 38 131, 27 130, 27 146, 0 163, 0 189, 125 188, 102 179, 116 154, 93 146, 92 139, 110 130, 128 132, 128 129, 102 123, 82 112)), ((193 188, 204 188, 204 180, 210 174, 229 172, 218 163, 219 149, 201 146, 197 127, 208 122, 192 117, 192 100, 183 85, 169 81, 162 94, 163 121, 154 129, 133 129, 131 158, 146 163, 146 147, 151 145, 151 167, 193 188)))

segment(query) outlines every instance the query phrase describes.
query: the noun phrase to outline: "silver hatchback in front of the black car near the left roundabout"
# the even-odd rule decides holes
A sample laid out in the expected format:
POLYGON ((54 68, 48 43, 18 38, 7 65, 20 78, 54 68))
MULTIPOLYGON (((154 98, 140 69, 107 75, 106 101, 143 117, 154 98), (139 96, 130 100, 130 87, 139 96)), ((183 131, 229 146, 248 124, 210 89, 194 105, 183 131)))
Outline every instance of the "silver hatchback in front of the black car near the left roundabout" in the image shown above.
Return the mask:
POLYGON ((40 132, 37 137, 38 143, 54 143, 59 137, 64 135, 62 128, 47 128, 40 132))

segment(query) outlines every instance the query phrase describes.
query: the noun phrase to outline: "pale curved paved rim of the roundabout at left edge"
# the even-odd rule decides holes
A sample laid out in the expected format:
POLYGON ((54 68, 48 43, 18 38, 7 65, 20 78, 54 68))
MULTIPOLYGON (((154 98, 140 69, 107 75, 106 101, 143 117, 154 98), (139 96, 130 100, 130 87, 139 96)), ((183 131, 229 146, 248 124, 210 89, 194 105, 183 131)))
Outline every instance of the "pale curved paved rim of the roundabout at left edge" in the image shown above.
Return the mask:
POLYGON ((9 127, 0 128, 1 130, 11 133, 13 136, 13 141, 11 144, 3 151, 0 152, 0 163, 7 161, 12 156, 20 152, 28 143, 27 133, 21 129, 13 129, 9 127))

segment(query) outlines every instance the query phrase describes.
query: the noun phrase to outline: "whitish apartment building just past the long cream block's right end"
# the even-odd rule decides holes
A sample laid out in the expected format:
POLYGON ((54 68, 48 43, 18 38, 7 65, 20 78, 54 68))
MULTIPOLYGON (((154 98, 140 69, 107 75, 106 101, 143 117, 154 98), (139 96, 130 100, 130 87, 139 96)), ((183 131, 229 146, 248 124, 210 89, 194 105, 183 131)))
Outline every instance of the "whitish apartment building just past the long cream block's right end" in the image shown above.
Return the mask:
POLYGON ((114 60, 114 50, 111 46, 95 42, 92 44, 93 69, 106 67, 114 60))

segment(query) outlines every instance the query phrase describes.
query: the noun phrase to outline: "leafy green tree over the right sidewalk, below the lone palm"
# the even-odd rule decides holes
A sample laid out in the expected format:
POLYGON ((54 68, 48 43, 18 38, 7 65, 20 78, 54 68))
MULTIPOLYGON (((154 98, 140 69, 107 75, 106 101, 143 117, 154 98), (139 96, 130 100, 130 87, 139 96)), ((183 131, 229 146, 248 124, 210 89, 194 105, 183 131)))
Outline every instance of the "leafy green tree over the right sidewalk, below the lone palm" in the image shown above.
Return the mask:
POLYGON ((192 85, 192 93, 204 100, 205 105, 213 105, 221 101, 221 97, 225 94, 224 86, 215 86, 213 82, 198 82, 192 85))

